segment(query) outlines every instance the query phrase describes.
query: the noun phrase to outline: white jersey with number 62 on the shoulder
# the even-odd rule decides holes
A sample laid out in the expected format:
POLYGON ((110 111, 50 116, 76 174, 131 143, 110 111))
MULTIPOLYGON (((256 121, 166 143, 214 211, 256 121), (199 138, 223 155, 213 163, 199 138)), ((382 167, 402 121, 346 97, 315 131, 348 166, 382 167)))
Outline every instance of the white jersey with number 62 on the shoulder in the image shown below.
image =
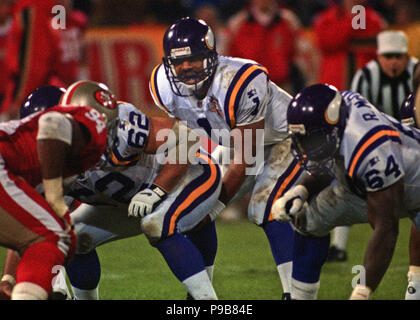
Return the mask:
POLYGON ((96 168, 86 171, 71 185, 68 195, 89 204, 128 203, 151 184, 162 165, 143 152, 149 137, 149 119, 129 103, 120 102, 116 138, 96 168))

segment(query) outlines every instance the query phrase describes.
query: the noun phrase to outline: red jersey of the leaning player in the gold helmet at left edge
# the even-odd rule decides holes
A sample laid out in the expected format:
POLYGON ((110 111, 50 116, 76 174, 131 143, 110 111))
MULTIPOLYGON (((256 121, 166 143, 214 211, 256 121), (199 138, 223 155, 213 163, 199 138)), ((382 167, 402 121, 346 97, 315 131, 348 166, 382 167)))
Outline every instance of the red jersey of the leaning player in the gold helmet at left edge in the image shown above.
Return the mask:
POLYGON ((13 174, 24 178, 33 187, 42 182, 36 148, 38 119, 42 114, 51 111, 71 115, 90 133, 90 141, 80 154, 66 159, 64 178, 84 172, 94 166, 105 151, 107 141, 105 121, 96 110, 90 107, 56 106, 22 120, 0 123, 1 157, 13 174))

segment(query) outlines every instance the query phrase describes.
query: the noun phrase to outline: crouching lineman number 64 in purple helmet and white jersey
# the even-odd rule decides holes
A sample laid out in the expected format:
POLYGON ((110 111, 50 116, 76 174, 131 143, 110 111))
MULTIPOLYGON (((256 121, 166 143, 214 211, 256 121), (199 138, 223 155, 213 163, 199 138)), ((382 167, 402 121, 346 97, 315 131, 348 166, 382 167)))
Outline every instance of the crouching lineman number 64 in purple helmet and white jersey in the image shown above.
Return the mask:
MULTIPOLYGON (((374 232, 365 252, 366 277, 350 296, 369 299, 391 261, 399 219, 410 217, 420 226, 420 131, 358 93, 323 84, 298 93, 287 120, 292 150, 310 175, 277 200, 273 215, 293 221, 302 239, 369 222, 374 232)), ((297 255, 308 249, 295 242, 297 255)))

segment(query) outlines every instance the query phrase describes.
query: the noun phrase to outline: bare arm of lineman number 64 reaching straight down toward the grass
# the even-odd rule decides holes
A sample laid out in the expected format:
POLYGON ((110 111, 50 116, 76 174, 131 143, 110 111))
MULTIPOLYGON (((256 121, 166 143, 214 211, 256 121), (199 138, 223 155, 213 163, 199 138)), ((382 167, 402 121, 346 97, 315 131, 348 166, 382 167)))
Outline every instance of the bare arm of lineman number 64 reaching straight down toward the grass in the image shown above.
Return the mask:
POLYGON ((366 284, 356 286, 350 299, 368 299, 384 276, 397 242, 398 211, 403 195, 402 179, 384 190, 368 192, 367 214, 374 231, 364 258, 366 284))

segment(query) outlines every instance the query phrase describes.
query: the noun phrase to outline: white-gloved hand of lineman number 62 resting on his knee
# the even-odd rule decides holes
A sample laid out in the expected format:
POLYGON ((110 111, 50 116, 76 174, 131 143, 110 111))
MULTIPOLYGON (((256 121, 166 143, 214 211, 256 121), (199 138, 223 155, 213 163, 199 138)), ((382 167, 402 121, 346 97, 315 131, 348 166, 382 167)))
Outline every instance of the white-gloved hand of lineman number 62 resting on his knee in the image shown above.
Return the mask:
POLYGON ((137 193, 128 206, 128 216, 143 218, 165 200, 167 193, 160 187, 152 185, 137 193))

